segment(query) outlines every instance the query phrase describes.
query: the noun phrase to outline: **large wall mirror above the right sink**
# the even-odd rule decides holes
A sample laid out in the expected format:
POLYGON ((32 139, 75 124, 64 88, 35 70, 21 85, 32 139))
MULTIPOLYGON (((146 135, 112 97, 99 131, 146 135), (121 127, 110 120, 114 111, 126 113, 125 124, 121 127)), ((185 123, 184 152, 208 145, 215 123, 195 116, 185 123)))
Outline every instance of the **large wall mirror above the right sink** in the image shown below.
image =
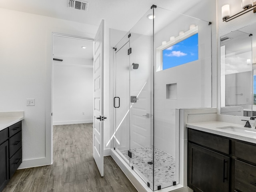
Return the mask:
POLYGON ((256 116, 256 24, 220 37, 221 114, 256 116))

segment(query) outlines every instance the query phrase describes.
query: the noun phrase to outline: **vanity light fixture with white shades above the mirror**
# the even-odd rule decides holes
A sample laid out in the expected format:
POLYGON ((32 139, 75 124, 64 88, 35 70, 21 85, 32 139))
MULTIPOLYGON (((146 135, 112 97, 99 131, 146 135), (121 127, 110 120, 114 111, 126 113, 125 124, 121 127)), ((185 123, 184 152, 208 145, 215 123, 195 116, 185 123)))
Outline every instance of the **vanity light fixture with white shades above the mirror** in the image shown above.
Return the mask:
POLYGON ((230 20, 233 20, 234 18, 237 18, 243 14, 246 14, 253 10, 253 12, 256 12, 256 2, 252 3, 252 0, 242 0, 241 1, 241 7, 244 9, 241 12, 234 14, 230 16, 230 6, 229 4, 226 4, 221 7, 221 16, 222 20, 225 22, 228 22, 230 20))

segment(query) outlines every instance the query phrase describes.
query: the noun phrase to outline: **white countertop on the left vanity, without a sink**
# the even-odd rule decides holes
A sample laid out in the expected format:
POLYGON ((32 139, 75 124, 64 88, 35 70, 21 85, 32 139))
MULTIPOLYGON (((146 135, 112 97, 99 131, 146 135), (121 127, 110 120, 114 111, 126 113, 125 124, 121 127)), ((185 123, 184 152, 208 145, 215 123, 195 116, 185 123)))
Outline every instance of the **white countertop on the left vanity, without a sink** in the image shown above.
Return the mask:
POLYGON ((0 131, 24 119, 24 112, 0 112, 0 131))

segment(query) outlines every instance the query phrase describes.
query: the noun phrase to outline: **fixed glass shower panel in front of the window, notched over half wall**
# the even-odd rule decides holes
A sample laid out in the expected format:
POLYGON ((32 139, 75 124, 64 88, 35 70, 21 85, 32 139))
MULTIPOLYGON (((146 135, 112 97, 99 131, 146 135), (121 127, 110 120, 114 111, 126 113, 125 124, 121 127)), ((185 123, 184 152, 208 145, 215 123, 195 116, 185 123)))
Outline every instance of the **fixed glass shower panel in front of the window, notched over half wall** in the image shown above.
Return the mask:
POLYGON ((154 190, 179 183, 176 109, 212 106, 211 25, 155 8, 154 190))

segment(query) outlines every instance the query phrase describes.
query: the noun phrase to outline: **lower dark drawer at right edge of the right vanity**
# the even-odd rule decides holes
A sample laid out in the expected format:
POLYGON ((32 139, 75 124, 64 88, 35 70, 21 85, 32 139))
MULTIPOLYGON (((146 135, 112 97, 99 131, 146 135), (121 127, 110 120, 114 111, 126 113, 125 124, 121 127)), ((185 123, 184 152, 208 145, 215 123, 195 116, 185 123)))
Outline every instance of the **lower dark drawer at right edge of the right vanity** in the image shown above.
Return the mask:
POLYGON ((256 167, 235 160, 235 188, 243 192, 256 191, 256 167))

